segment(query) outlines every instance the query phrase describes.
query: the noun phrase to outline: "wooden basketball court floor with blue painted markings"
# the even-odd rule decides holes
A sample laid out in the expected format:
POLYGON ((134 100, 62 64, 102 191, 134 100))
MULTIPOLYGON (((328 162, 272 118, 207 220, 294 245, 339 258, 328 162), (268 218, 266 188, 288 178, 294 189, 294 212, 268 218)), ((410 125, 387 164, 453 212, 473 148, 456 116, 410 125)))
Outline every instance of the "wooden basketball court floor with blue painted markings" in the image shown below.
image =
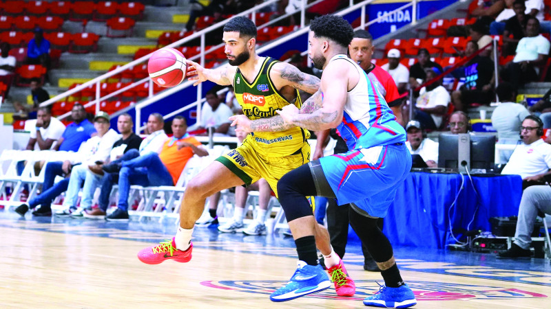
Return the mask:
MULTIPOLYGON (((296 263, 292 239, 278 233, 196 228, 191 262, 147 265, 136 253, 170 238, 174 222, 18 217, 0 212, 1 308, 362 308, 376 282, 383 284, 380 273, 363 270, 353 243, 345 262, 355 297, 329 289, 273 303, 269 294, 287 282, 296 263)), ((414 308, 551 308, 549 261, 412 248, 396 248, 395 255, 417 295, 414 308)))

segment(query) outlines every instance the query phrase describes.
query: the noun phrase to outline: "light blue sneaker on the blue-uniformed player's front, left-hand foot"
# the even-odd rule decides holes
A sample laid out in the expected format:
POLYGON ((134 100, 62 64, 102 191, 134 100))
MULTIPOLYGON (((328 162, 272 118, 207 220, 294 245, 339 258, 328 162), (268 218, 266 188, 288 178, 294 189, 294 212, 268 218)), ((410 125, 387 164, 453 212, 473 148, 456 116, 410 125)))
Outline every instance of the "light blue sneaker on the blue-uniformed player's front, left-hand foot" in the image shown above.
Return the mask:
POLYGON ((289 283, 271 293, 271 301, 288 301, 311 293, 320 292, 331 286, 331 280, 322 266, 311 266, 298 261, 297 270, 289 283))

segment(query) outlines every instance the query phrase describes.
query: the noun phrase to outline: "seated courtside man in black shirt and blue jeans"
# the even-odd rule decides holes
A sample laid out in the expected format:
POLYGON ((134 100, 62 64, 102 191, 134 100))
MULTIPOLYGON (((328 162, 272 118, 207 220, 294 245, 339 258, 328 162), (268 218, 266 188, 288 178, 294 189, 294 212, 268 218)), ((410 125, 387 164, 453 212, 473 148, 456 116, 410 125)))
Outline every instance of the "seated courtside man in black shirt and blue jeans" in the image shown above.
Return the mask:
MULTIPOLYGON (((141 144, 141 137, 132 132, 132 117, 127 113, 123 113, 118 116, 117 119, 117 129, 121 133, 121 139, 115 141, 113 148, 111 149, 110 155, 105 161, 114 161, 132 149, 138 149, 141 144)), ((81 205, 79 209, 83 211, 75 211, 71 216, 85 218, 105 218, 105 209, 96 208, 92 210, 92 199, 94 198, 94 193, 96 188, 102 185, 104 172, 101 169, 101 166, 104 162, 94 162, 94 165, 88 165, 88 171, 86 172, 84 185, 82 189, 82 198, 81 205)))

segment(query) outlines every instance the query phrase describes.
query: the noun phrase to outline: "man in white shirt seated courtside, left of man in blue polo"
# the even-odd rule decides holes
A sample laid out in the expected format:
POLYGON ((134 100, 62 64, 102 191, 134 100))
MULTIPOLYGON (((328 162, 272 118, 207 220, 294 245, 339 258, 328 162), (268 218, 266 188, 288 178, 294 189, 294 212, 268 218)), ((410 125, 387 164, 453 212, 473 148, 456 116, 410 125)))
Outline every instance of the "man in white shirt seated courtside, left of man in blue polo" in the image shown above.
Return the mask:
POLYGON ((50 108, 39 107, 37 112, 37 122, 34 124, 34 130, 30 131, 30 139, 27 143, 27 150, 49 150, 54 148, 65 132, 65 125, 56 117, 52 117, 50 108))

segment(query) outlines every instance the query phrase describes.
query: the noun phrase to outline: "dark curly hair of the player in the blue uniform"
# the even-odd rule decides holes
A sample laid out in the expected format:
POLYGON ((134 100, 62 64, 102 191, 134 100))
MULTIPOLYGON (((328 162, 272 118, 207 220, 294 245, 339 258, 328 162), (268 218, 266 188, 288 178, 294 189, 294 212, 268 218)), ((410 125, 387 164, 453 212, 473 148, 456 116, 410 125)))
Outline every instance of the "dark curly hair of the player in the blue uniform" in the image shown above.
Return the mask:
POLYGON ((314 37, 325 37, 331 39, 338 45, 347 48, 354 37, 354 30, 348 21, 341 16, 324 15, 316 17, 310 23, 310 30, 314 37))

